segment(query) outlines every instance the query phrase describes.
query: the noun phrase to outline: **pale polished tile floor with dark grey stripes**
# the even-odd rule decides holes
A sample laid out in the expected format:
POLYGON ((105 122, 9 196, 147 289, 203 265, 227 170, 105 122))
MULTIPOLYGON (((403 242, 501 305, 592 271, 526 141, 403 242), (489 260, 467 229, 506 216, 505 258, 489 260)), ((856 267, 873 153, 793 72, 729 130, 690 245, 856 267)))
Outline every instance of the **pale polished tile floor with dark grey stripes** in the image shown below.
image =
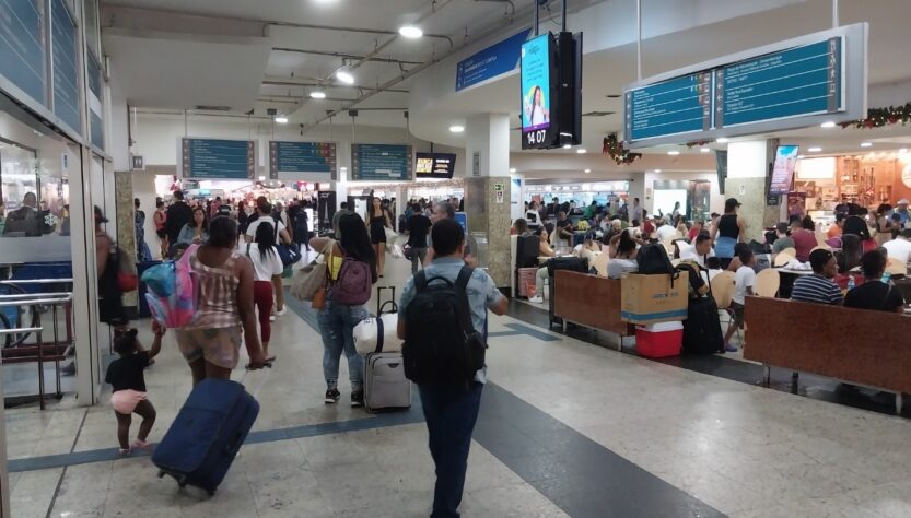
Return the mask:
MULTIPOLYGON (((394 268, 387 278, 404 278, 394 268)), ((492 384, 466 517, 911 516, 907 419, 641 360, 528 319, 491 318, 490 331, 492 384)), ((245 379, 262 385, 254 428, 262 442, 242 448, 214 497, 178 491, 148 457, 110 460, 109 408, 65 400, 7 412, 9 456, 19 459, 13 516, 427 516, 433 464, 419 409, 392 419, 324 405, 322 343, 293 313, 272 344, 276 367, 245 379), (307 427, 350 420, 377 421, 307 427), (277 439, 283 429, 292 438, 277 439), (33 469, 57 454, 62 463, 33 469)), ((190 388, 172 337, 147 381, 156 440, 190 388)))

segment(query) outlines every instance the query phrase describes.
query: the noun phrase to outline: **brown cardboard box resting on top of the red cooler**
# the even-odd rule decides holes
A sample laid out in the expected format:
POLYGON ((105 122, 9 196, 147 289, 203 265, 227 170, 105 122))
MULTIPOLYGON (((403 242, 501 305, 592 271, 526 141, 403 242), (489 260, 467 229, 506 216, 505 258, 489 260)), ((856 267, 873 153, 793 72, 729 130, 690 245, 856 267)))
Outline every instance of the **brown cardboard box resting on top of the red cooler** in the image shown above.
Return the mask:
POLYGON ((679 275, 623 276, 620 281, 620 319, 631 323, 658 323, 687 319, 687 278, 679 275))

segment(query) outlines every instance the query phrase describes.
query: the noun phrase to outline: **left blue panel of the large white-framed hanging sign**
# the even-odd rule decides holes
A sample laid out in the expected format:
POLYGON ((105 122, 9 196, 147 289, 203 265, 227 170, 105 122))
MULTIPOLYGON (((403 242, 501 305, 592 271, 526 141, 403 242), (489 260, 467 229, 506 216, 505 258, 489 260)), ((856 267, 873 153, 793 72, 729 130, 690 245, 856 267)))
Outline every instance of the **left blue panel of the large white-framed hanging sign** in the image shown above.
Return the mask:
POLYGON ((693 73, 627 92, 631 140, 703 131, 711 127, 711 74, 693 73))

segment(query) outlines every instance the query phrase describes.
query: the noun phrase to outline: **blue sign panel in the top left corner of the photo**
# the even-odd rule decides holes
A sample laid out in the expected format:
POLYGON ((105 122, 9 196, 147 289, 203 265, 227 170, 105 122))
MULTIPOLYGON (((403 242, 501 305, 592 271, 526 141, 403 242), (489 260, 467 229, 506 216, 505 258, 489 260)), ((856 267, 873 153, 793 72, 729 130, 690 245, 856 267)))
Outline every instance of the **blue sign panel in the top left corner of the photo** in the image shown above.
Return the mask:
POLYGON ((45 2, 0 0, 0 75, 47 105, 45 2))

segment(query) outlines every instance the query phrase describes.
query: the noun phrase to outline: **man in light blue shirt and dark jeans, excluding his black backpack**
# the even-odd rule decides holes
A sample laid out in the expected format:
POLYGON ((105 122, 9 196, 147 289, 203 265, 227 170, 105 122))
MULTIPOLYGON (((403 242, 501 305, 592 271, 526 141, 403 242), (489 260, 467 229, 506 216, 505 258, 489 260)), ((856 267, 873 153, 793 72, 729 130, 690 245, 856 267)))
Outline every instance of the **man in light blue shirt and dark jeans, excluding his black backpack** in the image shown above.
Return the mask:
MULTIPOLYGON (((434 259, 423 271, 424 279, 443 278, 453 283, 466 266, 465 232, 454 220, 441 220, 431 229, 434 259)), ((442 281, 433 281, 440 283, 442 281)), ((509 301, 493 280, 482 270, 475 269, 466 286, 468 310, 471 316, 470 330, 480 332, 487 321, 487 309, 494 315, 504 315, 509 301)), ((402 289, 399 301, 401 315, 408 314, 408 308, 417 294, 414 278, 408 280, 402 289)), ((398 338, 408 340, 413 322, 406 322, 406 318, 398 320, 398 338)), ((422 343, 409 343, 420 348, 422 343)), ((418 385, 421 393, 429 435, 430 454, 436 466, 436 484, 433 493, 432 517, 457 517, 458 506, 465 487, 465 473, 468 469, 468 451, 471 445, 471 434, 478 419, 481 393, 487 382, 487 366, 475 373, 467 382, 418 385)))

